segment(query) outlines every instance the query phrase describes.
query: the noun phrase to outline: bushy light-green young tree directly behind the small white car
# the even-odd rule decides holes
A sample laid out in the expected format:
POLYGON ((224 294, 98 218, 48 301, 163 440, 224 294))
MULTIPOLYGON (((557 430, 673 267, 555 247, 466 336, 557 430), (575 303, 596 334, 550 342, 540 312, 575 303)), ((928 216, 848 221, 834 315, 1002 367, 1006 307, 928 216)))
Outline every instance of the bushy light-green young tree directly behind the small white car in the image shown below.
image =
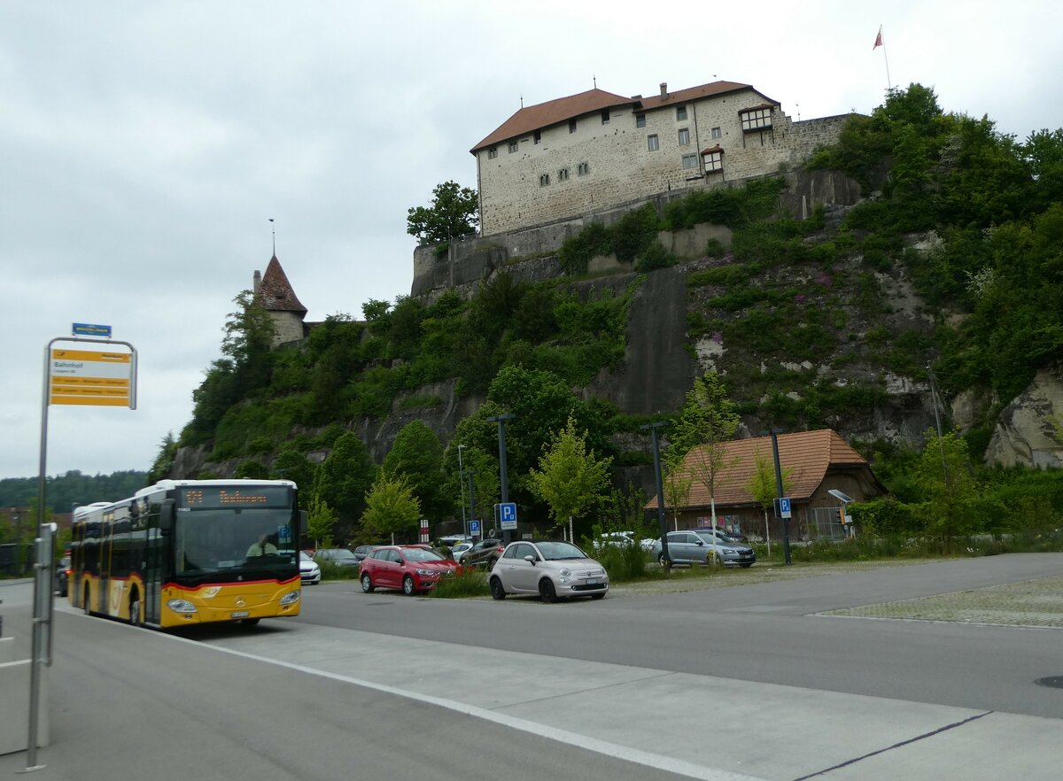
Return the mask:
POLYGON ((528 473, 532 492, 550 507, 555 523, 569 522, 602 500, 609 488, 609 466, 612 458, 598 460, 587 448, 587 431, 579 434, 576 422, 569 415, 564 428, 557 431, 550 445, 543 446, 539 469, 528 473))

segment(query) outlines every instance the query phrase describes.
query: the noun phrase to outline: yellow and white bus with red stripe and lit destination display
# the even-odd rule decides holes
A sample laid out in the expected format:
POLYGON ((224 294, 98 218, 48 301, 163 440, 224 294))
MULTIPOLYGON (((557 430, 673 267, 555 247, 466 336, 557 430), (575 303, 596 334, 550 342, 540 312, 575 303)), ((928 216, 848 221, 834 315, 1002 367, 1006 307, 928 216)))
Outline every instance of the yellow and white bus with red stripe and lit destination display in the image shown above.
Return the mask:
POLYGON ((290 480, 162 480, 73 513, 69 599, 161 629, 299 615, 290 480))

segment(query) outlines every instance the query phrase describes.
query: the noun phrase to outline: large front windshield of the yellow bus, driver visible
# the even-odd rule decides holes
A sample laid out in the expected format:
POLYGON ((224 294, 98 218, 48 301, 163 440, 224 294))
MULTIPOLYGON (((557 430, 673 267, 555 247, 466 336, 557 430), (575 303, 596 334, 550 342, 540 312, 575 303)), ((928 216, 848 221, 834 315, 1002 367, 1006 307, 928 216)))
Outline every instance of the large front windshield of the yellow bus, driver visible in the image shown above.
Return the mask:
POLYGON ((294 562, 290 509, 239 508, 178 513, 174 559, 179 573, 219 572, 294 562))

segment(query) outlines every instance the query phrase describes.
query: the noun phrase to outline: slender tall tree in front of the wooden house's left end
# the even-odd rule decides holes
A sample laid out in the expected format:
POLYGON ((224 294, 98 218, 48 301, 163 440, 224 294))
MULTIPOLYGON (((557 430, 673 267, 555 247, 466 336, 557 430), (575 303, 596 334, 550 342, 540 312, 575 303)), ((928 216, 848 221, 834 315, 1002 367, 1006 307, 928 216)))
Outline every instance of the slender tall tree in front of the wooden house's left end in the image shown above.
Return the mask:
POLYGON ((738 405, 727 397, 727 388, 720 375, 708 372, 695 379, 694 387, 687 392, 687 403, 679 412, 671 440, 677 457, 697 451, 686 464, 709 492, 713 529, 716 527, 718 481, 720 474, 731 465, 727 460, 726 443, 735 436, 740 422, 738 405))

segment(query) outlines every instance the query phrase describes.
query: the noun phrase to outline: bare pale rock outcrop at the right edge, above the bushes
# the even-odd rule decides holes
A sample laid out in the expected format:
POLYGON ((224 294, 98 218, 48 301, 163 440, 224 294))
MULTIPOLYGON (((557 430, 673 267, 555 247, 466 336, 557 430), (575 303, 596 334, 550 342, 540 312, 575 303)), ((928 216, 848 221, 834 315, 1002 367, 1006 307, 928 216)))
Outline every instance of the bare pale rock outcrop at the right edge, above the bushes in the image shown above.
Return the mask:
POLYGON ((1001 466, 1063 466, 1063 367, 1041 370, 997 419, 985 462, 1001 466))

